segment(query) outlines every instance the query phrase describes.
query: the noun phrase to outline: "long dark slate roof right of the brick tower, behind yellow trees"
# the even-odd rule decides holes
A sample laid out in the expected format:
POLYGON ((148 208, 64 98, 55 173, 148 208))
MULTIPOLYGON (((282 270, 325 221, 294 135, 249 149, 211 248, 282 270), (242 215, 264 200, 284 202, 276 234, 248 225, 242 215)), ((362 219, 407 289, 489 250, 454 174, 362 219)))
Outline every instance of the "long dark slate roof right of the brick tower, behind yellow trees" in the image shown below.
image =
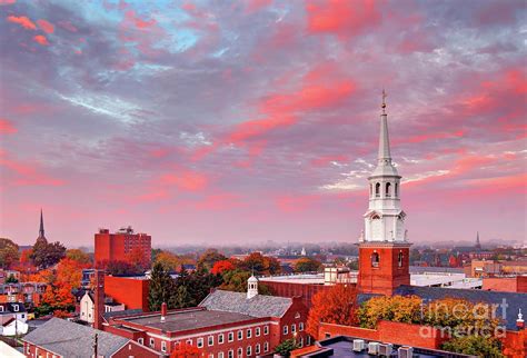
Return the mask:
POLYGON ((503 306, 497 308, 497 318, 505 320, 507 329, 516 329, 516 319, 518 318, 518 309, 527 312, 527 294, 501 292, 501 291, 484 291, 478 289, 459 289, 443 287, 417 287, 402 285, 395 290, 395 295, 410 296, 415 295, 427 300, 436 300, 445 297, 463 298, 471 302, 487 302, 501 305, 506 304, 505 310, 503 306), (505 312, 505 315, 503 315, 505 312), (505 316, 505 317, 504 317, 505 316))

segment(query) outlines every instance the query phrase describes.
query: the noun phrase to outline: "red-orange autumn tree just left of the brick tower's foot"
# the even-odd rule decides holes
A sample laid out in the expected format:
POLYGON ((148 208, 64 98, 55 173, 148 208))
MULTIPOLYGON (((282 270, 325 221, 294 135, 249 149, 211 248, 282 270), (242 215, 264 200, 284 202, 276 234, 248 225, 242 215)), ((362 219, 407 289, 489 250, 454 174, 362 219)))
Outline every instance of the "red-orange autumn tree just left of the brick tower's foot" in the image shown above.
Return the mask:
POLYGON ((335 285, 312 297, 307 332, 318 337, 320 322, 352 326, 357 322, 357 290, 350 285, 335 285))

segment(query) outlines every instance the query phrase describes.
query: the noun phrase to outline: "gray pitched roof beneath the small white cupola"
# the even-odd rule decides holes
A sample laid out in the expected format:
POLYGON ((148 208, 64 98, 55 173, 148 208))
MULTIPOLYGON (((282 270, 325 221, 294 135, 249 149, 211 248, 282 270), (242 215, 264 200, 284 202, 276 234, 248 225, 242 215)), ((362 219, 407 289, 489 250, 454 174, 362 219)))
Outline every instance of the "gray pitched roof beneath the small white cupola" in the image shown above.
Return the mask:
POLYGON ((291 298, 257 295, 247 299, 246 292, 216 290, 199 306, 210 310, 237 312, 252 317, 281 317, 292 304, 291 298))

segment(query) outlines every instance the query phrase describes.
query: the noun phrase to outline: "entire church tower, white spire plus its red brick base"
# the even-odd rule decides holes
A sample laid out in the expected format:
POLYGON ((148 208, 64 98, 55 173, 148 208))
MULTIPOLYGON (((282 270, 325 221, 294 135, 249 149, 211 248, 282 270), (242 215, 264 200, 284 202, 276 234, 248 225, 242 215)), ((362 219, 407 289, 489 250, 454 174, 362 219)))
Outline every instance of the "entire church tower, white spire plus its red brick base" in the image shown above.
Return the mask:
POLYGON ((400 176, 391 162, 386 92, 382 90, 379 155, 368 178, 369 207, 359 238, 358 288, 364 294, 391 296, 400 285, 410 285, 410 245, 400 208, 400 176))

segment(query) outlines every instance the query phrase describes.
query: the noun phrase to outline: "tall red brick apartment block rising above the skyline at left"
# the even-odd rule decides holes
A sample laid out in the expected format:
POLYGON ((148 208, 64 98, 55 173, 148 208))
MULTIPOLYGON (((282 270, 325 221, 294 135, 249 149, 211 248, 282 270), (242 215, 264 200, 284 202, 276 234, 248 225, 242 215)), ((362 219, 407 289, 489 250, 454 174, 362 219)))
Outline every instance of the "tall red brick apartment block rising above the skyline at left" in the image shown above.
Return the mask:
POLYGON ((122 228, 115 233, 100 229, 95 237, 95 261, 129 261, 135 250, 143 252, 143 263, 150 266, 152 238, 147 233, 135 233, 131 227, 122 228))

